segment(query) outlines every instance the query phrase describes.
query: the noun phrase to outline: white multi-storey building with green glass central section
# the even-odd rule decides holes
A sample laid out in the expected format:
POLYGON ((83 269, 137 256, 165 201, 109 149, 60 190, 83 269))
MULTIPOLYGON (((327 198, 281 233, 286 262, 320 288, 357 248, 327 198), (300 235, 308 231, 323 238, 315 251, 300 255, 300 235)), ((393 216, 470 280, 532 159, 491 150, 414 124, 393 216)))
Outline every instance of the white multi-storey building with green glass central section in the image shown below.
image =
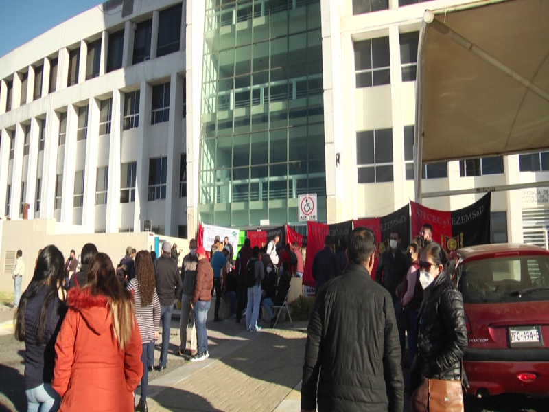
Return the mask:
MULTIPOLYGON (((297 197, 314 193, 319 221, 384 216, 414 198, 423 12, 467 2, 135 0, 75 16, 0 58, 0 214, 28 204, 29 218, 178 237, 198 222, 305 231, 297 197)), ((547 181, 549 153, 425 165, 423 179, 547 181)), ((547 247, 544 189, 493 194, 493 241, 547 247)))

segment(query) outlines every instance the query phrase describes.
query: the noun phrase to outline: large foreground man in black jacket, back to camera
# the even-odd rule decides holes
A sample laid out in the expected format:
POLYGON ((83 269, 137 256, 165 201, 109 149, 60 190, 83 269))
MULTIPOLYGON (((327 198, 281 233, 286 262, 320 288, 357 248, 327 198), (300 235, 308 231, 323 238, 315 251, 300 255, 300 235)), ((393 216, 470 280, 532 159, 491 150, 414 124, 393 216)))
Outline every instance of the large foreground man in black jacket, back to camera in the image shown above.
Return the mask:
POLYGON ((404 407, 404 380, 393 301, 372 281, 375 237, 349 236, 349 266, 320 288, 305 346, 302 411, 390 411, 404 407), (320 380, 318 373, 320 371, 320 380))

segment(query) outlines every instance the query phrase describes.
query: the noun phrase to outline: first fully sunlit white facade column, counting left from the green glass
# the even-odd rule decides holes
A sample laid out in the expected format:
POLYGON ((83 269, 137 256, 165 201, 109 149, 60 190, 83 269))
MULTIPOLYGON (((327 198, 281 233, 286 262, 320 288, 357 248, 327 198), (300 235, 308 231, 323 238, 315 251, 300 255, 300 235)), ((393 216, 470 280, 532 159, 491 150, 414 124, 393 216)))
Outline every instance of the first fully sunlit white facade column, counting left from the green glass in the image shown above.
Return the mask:
POLYGON ((117 233, 119 228, 118 211, 120 208, 120 148, 122 138, 123 97, 124 94, 118 89, 113 91, 113 116, 110 120, 110 145, 108 150, 106 233, 117 233))

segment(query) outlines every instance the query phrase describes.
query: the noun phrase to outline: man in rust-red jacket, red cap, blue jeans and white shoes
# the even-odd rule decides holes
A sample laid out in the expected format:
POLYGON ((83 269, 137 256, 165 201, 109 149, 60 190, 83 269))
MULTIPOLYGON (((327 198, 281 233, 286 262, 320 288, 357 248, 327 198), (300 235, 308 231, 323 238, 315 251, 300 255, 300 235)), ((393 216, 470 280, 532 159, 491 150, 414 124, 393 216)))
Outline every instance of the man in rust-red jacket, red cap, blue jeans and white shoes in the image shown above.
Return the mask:
POLYGON ((196 249, 198 264, 196 265, 196 282, 194 293, 191 299, 191 308, 194 310, 196 323, 196 335, 198 337, 198 353, 191 358, 191 361, 204 361, 209 358, 208 353, 208 332, 206 330, 206 319, 211 304, 211 290, 213 288, 213 269, 208 262, 204 247, 196 249))

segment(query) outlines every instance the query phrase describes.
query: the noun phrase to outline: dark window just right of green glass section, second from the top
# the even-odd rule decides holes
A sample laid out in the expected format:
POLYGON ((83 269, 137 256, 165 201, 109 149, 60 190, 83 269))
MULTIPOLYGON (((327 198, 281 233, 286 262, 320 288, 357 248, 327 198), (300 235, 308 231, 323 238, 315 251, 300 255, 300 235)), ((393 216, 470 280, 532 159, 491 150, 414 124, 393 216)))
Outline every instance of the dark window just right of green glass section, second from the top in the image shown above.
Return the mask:
POLYGON ((355 43, 355 76, 358 88, 390 84, 388 37, 355 43))

